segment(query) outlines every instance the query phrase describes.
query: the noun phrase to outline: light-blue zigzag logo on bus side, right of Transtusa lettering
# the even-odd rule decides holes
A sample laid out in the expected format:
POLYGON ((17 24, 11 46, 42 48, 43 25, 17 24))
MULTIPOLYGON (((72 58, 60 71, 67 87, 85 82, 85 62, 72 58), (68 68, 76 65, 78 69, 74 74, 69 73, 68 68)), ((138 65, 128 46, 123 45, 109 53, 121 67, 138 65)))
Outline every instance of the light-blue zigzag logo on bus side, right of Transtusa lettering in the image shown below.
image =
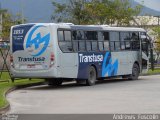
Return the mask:
POLYGON ((111 77, 117 75, 118 59, 112 63, 111 53, 107 52, 102 65, 102 77, 111 77))

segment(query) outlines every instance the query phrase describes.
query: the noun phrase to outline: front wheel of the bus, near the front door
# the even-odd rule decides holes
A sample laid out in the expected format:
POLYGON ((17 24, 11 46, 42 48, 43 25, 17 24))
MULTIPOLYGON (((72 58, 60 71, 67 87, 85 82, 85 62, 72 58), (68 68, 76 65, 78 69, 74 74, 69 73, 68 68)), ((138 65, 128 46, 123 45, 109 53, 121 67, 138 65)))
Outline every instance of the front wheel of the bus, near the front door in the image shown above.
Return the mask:
POLYGON ((138 80, 138 77, 139 77, 139 66, 137 64, 134 64, 132 68, 132 75, 130 75, 129 79, 138 80))

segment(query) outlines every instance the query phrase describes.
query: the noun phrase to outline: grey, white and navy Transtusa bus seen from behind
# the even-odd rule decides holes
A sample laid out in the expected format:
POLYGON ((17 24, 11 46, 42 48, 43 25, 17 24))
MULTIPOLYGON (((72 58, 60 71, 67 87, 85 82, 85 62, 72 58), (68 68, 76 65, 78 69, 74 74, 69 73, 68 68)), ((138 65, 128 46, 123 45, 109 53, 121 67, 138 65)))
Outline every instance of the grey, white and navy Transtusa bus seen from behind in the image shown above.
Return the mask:
POLYGON ((11 27, 10 71, 15 78, 43 78, 49 85, 122 77, 148 70, 150 37, 142 28, 62 23, 11 27))

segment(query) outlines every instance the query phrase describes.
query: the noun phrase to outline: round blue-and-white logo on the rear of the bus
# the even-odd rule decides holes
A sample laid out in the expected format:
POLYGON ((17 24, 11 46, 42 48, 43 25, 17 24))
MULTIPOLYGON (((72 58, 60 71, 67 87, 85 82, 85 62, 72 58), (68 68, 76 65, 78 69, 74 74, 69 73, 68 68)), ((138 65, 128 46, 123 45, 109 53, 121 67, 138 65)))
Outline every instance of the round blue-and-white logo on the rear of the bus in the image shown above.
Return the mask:
MULTIPOLYGON (((45 26, 39 25, 35 26, 29 33, 27 42, 26 42, 26 49, 31 53, 32 56, 36 57, 41 55, 45 52, 45 50, 48 47, 49 40, 50 40, 50 33, 47 33, 42 36, 42 33, 40 32, 41 28, 44 28, 45 26), (30 50, 32 48, 32 50, 30 50), (34 50, 33 50, 34 49, 34 50), (35 52, 33 52, 35 51, 35 52)), ((44 30, 43 30, 44 32, 44 30)))

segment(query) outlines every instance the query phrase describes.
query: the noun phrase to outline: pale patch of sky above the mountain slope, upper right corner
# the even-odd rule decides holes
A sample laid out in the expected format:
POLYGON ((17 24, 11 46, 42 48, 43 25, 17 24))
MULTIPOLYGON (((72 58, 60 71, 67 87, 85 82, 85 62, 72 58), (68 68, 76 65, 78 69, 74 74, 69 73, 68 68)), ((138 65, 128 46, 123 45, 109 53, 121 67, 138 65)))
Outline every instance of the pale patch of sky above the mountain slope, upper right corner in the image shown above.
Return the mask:
POLYGON ((144 1, 144 5, 154 9, 156 11, 160 11, 160 0, 135 0, 138 3, 142 3, 144 1))

